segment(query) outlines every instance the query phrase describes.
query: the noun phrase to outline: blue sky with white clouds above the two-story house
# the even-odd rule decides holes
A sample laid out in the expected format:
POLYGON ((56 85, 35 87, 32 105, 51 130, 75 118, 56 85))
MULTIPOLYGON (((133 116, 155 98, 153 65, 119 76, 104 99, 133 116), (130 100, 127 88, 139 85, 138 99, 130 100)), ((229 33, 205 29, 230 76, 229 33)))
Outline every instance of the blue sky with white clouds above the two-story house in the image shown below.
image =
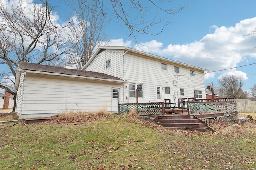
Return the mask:
MULTIPOLYGON (((16 0, 14 0, 16 1, 16 0)), ((28 4, 36 1, 28 0, 28 4)), ((54 5, 59 24, 74 15, 67 1, 48 0, 54 5)), ((108 2, 108 1, 102 1, 108 2)), ((129 2, 129 1, 122 1, 129 2)), ((147 1, 140 1, 144 4, 147 1)), ((154 1, 155 2, 155 1, 154 1)), ((256 42, 248 37, 249 30, 256 26, 255 0, 174 0, 170 8, 186 6, 173 16, 171 24, 156 36, 137 34, 136 40, 120 22, 113 20, 104 30, 110 45, 127 46, 144 50, 165 58, 194 65, 209 71, 205 85, 225 75, 241 75, 243 90, 248 91, 256 83, 256 42), (137 46, 139 45, 140 48, 137 46), (240 67, 247 65, 245 67, 240 67), (236 69, 229 69, 238 67, 236 69)), ((130 9, 131 14, 135 11, 130 9)), ((148 17, 156 12, 148 10, 148 17)), ((161 17, 161 16, 160 16, 161 17)), ((163 16, 164 17, 164 16, 163 16)), ((152 28, 152 32, 154 32, 152 28)))

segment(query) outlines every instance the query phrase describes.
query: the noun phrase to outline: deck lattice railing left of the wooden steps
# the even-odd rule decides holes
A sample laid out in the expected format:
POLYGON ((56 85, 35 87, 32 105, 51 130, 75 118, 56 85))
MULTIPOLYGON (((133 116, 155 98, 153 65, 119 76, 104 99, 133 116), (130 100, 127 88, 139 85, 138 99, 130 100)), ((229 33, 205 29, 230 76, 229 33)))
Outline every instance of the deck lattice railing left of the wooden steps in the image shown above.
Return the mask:
POLYGON ((163 115, 164 102, 118 104, 119 113, 128 113, 132 110, 136 110, 138 114, 143 115, 163 115))

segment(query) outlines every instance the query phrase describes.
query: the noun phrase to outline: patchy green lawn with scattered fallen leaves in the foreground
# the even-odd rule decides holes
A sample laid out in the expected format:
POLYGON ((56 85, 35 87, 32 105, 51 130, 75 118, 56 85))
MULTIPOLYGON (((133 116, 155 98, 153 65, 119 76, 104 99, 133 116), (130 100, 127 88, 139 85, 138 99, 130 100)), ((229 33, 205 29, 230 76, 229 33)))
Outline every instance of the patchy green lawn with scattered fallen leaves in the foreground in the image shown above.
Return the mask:
POLYGON ((256 167, 255 122, 238 126, 217 122, 213 127, 218 133, 167 130, 124 115, 96 115, 83 122, 28 124, 30 132, 21 123, 12 125, 0 124, 0 169, 256 167))

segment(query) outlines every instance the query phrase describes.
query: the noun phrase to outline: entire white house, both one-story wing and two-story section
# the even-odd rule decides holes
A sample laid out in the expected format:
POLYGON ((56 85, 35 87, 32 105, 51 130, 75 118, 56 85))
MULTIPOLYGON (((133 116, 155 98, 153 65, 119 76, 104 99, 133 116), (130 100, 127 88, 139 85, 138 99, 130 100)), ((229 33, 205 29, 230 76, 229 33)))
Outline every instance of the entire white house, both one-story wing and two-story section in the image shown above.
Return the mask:
POLYGON ((21 119, 70 110, 117 112, 117 99, 136 103, 137 89, 140 103, 205 98, 208 70, 127 47, 99 47, 82 70, 72 63, 65 67, 18 62, 16 113, 21 119))

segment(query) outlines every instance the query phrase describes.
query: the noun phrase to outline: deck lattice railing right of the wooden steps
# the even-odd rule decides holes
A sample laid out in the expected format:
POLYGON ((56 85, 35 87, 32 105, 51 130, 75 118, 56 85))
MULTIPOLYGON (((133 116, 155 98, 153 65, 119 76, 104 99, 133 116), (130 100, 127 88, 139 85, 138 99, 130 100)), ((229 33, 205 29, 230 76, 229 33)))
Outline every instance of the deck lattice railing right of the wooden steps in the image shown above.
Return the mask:
POLYGON ((237 103, 188 101, 188 115, 234 112, 237 112, 237 103))

